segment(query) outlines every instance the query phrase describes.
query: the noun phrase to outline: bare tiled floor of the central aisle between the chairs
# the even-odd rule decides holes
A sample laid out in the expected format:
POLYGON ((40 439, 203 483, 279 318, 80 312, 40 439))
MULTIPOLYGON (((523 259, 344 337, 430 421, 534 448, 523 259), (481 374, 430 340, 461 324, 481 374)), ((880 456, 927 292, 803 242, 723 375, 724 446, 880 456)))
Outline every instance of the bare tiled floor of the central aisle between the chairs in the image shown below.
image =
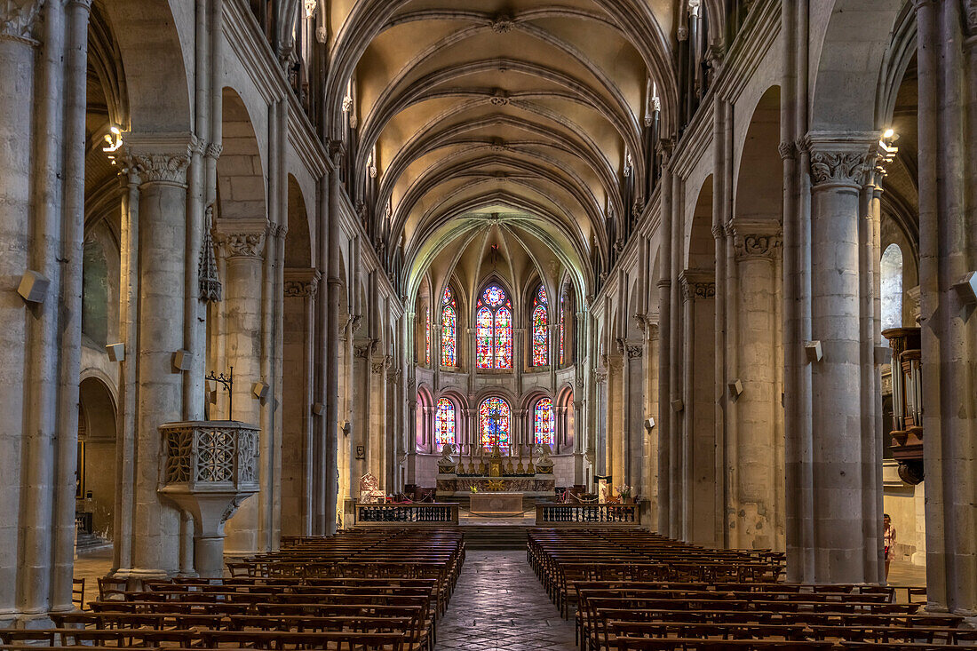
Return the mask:
POLYGON ((469 551, 436 651, 573 651, 564 621, 526 562, 525 551, 469 551))

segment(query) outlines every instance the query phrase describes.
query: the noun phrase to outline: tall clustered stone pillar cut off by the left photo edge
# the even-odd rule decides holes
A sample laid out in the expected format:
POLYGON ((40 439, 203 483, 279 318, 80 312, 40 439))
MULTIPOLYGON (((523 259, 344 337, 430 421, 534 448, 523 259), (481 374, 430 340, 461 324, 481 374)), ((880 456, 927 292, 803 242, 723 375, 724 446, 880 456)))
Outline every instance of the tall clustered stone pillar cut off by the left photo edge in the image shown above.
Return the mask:
MULTIPOLYGON (((54 499, 59 415, 59 346, 63 150, 61 67, 64 23, 60 5, 42 23, 45 43, 33 40, 43 2, 0 4, 0 397, 7 421, 0 432, 0 626, 40 619, 59 605, 53 593, 52 544, 58 523, 54 499), (40 74, 37 70, 40 69, 40 74), (35 84, 37 99, 35 101, 35 84), (35 112, 34 108, 37 107, 35 112), (36 185, 35 185, 36 184, 36 185), (31 193, 35 190, 36 199, 31 193), (51 285, 42 303, 18 293, 27 270, 51 285), (20 556, 22 554, 22 556, 20 556), (19 617, 20 616, 20 617, 19 617)), ((37 25, 38 28, 41 25, 37 25)), ((75 387, 75 390, 77 388, 75 387)), ((64 416, 64 414, 62 414, 64 416)), ((77 425, 75 425, 76 427, 77 425)), ((75 432, 66 432, 71 441, 75 432)), ((72 463, 73 466, 73 463, 72 463)), ((71 470, 62 470, 67 478, 71 470)), ((73 537, 72 537, 73 541, 73 537)), ((70 558, 70 557, 69 557, 70 558)), ((47 626, 40 621, 34 626, 47 626)))

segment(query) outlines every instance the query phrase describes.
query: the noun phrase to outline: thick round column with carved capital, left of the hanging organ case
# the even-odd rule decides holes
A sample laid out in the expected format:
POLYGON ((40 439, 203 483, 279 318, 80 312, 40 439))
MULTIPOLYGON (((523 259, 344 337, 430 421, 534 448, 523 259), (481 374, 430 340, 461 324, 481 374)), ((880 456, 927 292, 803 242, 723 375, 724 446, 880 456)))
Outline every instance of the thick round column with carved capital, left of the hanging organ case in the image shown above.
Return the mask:
POLYGON ((877 140, 809 134, 811 177, 812 489, 816 582, 861 583, 865 563, 863 491, 880 491, 863 463, 859 232, 860 192, 877 140))

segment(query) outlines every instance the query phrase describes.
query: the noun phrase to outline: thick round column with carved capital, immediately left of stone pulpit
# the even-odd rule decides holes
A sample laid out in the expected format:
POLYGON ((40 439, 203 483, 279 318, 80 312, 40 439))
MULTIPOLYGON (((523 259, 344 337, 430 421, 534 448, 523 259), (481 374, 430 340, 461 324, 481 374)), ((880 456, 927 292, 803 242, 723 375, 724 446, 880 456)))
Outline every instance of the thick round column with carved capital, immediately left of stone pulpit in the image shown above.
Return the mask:
POLYGON ((183 375, 174 354, 184 348, 187 168, 190 136, 130 135, 128 166, 141 181, 139 199, 139 349, 132 566, 120 577, 155 579, 180 570, 180 509, 161 499, 158 427, 183 417, 183 375), (139 462, 137 463, 137 459, 139 462))

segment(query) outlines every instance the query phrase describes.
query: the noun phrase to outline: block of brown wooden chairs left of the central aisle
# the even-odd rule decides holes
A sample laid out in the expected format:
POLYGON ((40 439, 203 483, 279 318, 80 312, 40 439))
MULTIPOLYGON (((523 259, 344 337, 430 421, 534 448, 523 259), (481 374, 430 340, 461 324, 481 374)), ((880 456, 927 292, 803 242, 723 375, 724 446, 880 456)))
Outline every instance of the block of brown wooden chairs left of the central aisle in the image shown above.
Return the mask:
POLYGON ((433 651, 463 560, 451 529, 290 539, 219 580, 100 581, 86 610, 0 629, 0 647, 433 651))

